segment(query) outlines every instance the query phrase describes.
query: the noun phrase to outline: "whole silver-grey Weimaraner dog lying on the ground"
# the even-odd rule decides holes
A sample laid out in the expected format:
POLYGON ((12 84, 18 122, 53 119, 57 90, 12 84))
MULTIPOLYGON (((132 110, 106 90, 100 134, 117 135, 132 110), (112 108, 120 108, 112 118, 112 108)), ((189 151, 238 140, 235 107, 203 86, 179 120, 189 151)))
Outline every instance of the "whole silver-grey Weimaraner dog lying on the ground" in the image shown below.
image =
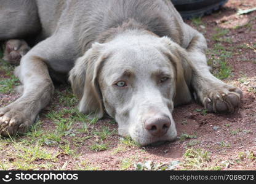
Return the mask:
POLYGON ((0 40, 4 58, 20 60, 23 86, 0 109, 2 136, 26 132, 66 75, 80 112, 108 113, 119 135, 140 145, 175 140, 176 105, 196 98, 209 112, 231 113, 242 98, 210 74, 206 39, 169 0, 0 0, 0 40), (29 50, 22 39, 31 35, 29 50))

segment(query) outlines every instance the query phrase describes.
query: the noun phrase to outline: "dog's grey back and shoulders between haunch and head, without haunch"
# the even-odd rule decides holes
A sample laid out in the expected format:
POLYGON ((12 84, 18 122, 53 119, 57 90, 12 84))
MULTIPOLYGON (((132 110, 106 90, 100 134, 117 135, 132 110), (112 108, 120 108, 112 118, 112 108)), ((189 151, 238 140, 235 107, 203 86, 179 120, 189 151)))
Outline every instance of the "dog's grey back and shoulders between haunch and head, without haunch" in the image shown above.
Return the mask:
POLYGON ((86 46, 82 53, 105 31, 129 20, 158 36, 182 42, 181 17, 169 1, 37 1, 37 5, 44 37, 71 30, 74 41, 86 46))

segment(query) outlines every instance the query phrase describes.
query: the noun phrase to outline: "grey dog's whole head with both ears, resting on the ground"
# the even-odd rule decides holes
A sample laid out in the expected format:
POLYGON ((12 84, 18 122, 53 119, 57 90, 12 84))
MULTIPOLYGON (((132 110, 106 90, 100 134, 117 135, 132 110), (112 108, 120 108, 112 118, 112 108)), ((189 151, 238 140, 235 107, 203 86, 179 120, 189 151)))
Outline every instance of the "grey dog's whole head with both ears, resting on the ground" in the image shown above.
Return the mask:
POLYGON ((95 43, 70 72, 79 110, 98 118, 106 110, 118 122, 119 134, 140 145, 174 140, 174 101, 188 91, 184 58, 172 40, 151 34, 95 43))

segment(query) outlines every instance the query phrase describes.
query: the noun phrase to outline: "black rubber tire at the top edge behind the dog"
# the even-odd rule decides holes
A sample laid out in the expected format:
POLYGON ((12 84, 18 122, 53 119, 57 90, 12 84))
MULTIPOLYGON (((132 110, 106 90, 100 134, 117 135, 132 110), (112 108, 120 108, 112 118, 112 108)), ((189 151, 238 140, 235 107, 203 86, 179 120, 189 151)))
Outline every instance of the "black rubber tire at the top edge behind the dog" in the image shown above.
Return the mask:
POLYGON ((171 0, 182 18, 191 19, 209 15, 220 9, 228 0, 171 0))

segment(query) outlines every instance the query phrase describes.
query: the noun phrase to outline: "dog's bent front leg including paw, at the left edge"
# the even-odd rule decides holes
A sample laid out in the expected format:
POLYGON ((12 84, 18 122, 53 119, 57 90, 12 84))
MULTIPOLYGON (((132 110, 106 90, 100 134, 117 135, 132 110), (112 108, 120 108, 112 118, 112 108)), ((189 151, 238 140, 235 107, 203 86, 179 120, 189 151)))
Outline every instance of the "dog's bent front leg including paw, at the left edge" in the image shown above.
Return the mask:
MULTIPOLYGON (((37 46, 36 46, 37 47, 37 46)), ((12 104, 0 109, 0 135, 26 132, 39 111, 49 104, 54 85, 44 58, 32 49, 23 56, 15 74, 23 83, 23 94, 12 104)))

